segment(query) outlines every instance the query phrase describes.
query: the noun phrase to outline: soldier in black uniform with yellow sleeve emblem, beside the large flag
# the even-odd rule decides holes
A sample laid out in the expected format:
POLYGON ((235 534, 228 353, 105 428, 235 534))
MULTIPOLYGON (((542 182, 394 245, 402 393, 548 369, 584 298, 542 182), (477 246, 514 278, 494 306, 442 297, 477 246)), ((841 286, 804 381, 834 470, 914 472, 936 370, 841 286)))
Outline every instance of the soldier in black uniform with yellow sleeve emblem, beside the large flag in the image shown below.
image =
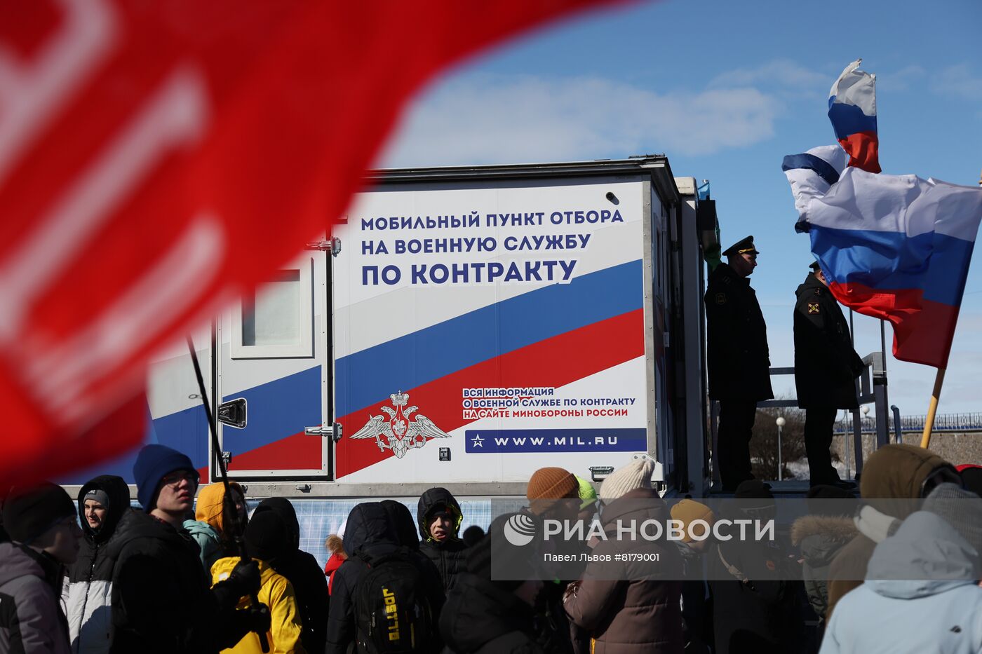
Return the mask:
POLYGON ((805 409, 804 447, 810 484, 854 487, 832 466, 829 446, 839 409, 856 409, 862 359, 852 349, 846 316, 818 262, 798 286, 794 304, 794 386, 805 409))

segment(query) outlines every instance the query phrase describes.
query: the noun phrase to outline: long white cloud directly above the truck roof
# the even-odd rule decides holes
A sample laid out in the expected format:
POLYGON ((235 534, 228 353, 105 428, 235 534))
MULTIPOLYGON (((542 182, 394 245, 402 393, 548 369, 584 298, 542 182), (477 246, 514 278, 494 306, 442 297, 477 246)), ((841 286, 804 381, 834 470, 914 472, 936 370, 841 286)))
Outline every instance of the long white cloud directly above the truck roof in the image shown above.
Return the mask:
POLYGON ((755 88, 657 93, 598 78, 468 76, 416 102, 383 165, 711 154, 773 136, 780 108, 755 88))

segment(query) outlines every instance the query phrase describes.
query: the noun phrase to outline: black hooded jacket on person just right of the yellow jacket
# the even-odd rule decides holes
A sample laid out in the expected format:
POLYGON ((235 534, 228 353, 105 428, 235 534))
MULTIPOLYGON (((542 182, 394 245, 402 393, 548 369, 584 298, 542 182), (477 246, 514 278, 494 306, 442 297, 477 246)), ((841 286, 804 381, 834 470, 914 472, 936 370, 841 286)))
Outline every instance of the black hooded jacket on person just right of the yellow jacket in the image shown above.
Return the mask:
MULTIPOLYGON (((274 511, 287 525, 292 548, 283 556, 269 561, 269 565, 278 574, 290 581, 297 596, 297 609, 300 612, 302 633, 300 639, 303 648, 308 652, 324 651, 327 633, 327 613, 331 596, 327 590, 327 580, 320 570, 320 565, 312 554, 300 550, 300 521, 297 510, 290 500, 282 497, 271 497, 259 503, 252 512, 274 511)), ((260 600, 262 601, 262 600, 260 600)))

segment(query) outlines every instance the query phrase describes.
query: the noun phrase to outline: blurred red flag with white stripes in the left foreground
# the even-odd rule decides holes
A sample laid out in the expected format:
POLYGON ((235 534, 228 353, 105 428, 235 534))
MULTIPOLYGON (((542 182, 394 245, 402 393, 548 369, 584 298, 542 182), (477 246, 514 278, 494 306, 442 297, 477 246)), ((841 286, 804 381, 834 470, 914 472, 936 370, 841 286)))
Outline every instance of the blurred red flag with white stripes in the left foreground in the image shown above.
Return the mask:
POLYGON ((414 90, 609 2, 0 3, 0 478, 135 445, 148 355, 341 215, 414 90))

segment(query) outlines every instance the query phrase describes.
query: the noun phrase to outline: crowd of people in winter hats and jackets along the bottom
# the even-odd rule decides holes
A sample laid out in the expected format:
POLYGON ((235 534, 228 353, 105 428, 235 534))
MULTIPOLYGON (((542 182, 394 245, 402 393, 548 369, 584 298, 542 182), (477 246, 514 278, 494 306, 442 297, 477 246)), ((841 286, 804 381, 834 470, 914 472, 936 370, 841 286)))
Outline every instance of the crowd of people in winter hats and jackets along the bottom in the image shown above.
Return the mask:
MULTIPOLYGON (((969 501, 982 468, 885 446, 865 465, 863 502, 812 487, 814 509, 787 544, 714 538, 728 505, 670 507, 653 471, 637 459, 596 488, 540 468, 527 506, 486 533, 461 532, 445 488, 424 492, 415 518, 402 502, 362 502, 343 535, 328 536, 322 569, 300 550, 289 500, 265 499, 249 516, 241 485, 198 492, 187 456, 149 445, 134 468, 139 509, 116 476, 95 477, 76 501, 50 483, 8 494, 0 653, 982 651, 982 502, 969 501), (597 520, 611 537, 582 543, 591 556, 559 579, 537 564, 548 541, 510 539, 516 518, 597 520), (621 521, 668 518, 681 538, 615 537, 621 521), (626 563, 611 574, 603 563, 651 553, 660 566, 618 556, 626 563)), ((732 511, 775 515, 758 480, 742 481, 735 501, 732 511)))

